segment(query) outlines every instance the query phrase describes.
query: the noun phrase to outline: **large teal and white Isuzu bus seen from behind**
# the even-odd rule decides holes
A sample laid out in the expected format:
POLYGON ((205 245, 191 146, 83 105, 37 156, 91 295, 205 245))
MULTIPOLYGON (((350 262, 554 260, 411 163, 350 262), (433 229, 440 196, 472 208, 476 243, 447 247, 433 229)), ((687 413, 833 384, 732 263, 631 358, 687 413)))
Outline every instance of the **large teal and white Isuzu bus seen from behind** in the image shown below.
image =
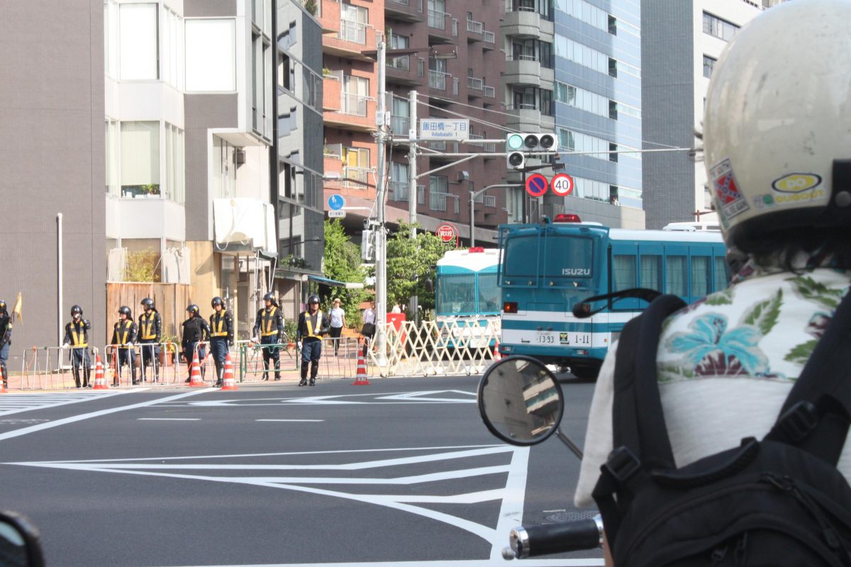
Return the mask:
POLYGON ((576 303, 632 287, 674 293, 692 303, 728 285, 720 232, 611 229, 574 214, 541 224, 500 226, 502 354, 527 354, 597 377, 609 345, 641 299, 593 303, 586 319, 576 303))

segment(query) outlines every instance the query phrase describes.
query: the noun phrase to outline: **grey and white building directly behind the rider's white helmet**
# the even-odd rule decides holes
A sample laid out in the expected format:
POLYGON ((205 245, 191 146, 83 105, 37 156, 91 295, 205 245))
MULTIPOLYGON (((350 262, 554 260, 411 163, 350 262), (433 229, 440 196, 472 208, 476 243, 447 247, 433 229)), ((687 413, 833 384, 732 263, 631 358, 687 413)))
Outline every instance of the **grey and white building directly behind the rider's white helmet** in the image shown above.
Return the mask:
MULTIPOLYGON (((642 3, 645 147, 700 148, 704 100, 722 49, 766 0, 661 0, 642 3)), ((643 156, 647 228, 671 222, 717 221, 698 151, 643 156)))

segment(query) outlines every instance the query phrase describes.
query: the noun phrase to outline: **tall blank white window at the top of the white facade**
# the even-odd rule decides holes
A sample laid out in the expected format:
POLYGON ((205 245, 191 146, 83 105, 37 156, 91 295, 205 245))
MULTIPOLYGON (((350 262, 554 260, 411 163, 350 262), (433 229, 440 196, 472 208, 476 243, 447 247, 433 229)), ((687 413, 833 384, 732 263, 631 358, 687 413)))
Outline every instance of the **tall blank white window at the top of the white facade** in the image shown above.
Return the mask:
POLYGON ((157 80, 157 4, 121 4, 118 9, 121 79, 157 80))

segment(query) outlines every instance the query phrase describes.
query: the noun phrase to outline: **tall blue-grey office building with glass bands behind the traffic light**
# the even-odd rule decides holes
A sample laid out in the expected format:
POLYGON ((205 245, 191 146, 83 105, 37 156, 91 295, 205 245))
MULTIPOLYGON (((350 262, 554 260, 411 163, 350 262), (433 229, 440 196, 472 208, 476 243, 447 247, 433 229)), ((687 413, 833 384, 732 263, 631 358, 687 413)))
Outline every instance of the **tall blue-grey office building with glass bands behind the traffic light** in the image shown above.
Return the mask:
POLYGON ((507 0, 502 22, 508 68, 505 103, 514 131, 556 134, 555 160, 528 160, 528 172, 574 179, 570 196, 539 199, 512 191, 514 222, 579 213, 608 226, 643 228, 641 14, 636 3, 507 0), (555 167, 548 167, 552 165, 555 167), (524 202, 525 201, 525 202, 524 202))

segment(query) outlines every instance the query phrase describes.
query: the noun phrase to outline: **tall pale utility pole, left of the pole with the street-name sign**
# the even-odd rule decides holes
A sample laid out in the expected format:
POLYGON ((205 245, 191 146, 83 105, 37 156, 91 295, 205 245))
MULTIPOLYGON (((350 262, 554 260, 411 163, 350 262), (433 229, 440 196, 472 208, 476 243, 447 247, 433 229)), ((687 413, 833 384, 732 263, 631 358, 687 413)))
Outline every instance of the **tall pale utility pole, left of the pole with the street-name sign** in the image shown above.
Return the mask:
POLYGON ((386 207, 386 174, 385 174, 385 145, 386 128, 386 86, 385 63, 386 45, 380 32, 376 34, 378 48, 378 110, 375 116, 378 133, 378 174, 375 179, 375 204, 378 209, 378 227, 375 233, 375 309, 377 325, 375 326, 375 361, 379 366, 387 365, 387 233, 385 229, 386 207))

